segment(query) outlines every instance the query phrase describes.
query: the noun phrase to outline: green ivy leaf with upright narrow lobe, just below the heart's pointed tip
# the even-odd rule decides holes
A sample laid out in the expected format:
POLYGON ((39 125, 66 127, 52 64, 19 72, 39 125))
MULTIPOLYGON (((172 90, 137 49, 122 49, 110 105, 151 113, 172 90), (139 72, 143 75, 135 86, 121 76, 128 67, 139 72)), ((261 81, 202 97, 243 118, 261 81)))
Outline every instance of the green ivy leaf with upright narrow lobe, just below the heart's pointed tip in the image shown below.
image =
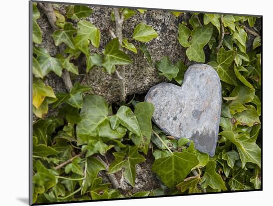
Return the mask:
POLYGON ((205 174, 203 176, 202 186, 213 188, 214 190, 227 190, 225 183, 220 175, 215 172, 216 162, 209 160, 205 166, 205 174))

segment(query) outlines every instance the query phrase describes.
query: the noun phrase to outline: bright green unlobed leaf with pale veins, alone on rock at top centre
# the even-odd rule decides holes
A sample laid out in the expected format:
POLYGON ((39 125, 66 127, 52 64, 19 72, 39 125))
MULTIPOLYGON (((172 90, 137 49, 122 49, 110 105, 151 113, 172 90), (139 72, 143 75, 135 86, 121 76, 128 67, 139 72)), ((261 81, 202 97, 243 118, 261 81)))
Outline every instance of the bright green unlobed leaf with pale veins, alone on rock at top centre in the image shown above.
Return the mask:
POLYGON ((153 38, 157 38, 158 34, 156 31, 149 25, 145 23, 139 23, 133 34, 133 39, 140 41, 140 42, 148 42, 153 38))

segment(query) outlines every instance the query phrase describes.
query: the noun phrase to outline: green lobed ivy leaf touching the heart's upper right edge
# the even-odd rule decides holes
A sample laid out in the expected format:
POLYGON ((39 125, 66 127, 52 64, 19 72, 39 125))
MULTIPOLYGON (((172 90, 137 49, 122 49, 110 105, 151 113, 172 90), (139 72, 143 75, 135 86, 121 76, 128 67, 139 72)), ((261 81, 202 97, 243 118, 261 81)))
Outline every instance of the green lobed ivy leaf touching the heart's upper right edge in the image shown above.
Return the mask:
POLYGON ((234 70, 229 69, 233 60, 235 58, 234 51, 226 51, 223 47, 219 49, 217 53, 216 62, 207 63, 211 67, 213 67, 220 79, 226 83, 237 86, 236 76, 234 70))

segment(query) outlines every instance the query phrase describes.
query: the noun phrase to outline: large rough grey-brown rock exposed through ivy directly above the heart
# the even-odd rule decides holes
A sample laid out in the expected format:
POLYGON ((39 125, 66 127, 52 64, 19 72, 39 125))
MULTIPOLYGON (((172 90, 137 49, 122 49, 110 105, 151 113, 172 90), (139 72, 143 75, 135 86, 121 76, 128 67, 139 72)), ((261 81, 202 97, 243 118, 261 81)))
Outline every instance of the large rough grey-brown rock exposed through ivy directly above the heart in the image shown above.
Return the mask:
MULTIPOLYGON (((93 7, 93 10, 94 12, 91 15, 90 21, 100 31, 106 32, 101 32, 100 47, 98 49, 90 47, 90 49, 91 52, 101 53, 105 45, 111 40, 107 30, 112 29, 115 31, 115 23, 110 18, 112 8, 93 7)), ((141 43, 133 40, 132 36, 136 25, 144 22, 152 26, 159 36, 146 44, 152 61, 160 60, 162 56, 167 55, 175 63, 185 58, 184 48, 177 41, 177 36, 178 25, 182 18, 185 21, 186 17, 187 15, 178 19, 168 11, 148 10, 144 14, 136 11, 136 14, 127 19, 123 24, 123 38, 132 40, 132 43, 136 47, 140 46, 141 43)), ((134 63, 128 65, 125 69, 127 95, 147 92, 151 86, 162 81, 167 81, 167 79, 158 75, 155 67, 151 67, 147 63, 139 50, 137 54, 128 51, 128 55, 134 63)), ((119 70, 119 67, 117 69, 119 70)), ((119 82, 115 73, 109 75, 102 68, 94 68, 83 78, 82 83, 92 87, 94 93, 103 96, 110 103, 119 100, 119 82)))

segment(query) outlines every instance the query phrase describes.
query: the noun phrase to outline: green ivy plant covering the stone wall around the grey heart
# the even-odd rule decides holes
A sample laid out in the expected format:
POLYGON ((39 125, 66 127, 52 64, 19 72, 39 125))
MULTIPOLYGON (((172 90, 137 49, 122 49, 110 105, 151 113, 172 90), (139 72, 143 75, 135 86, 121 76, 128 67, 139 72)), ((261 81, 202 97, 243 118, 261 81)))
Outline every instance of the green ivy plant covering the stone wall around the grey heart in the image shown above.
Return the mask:
MULTIPOLYGON (((190 17, 177 26, 178 36, 173 41, 185 51, 185 59, 174 63, 168 56, 153 61, 149 43, 160 35, 145 22, 134 26, 130 38, 111 39, 108 31, 100 31, 88 20, 95 15, 89 6, 65 5, 65 13, 59 4, 47 4, 48 9, 43 6, 45 3, 33 3, 32 12, 33 203, 261 188, 262 67, 261 36, 254 28, 257 17, 171 11, 171 19, 190 17), (49 9, 56 17, 57 29, 51 37, 60 53, 55 56, 42 46, 43 33, 38 24, 40 12, 49 9), (255 39, 249 48, 246 43, 250 30, 255 39), (92 47, 102 48, 102 33, 109 35, 104 52, 91 53, 92 47), (223 99, 213 157, 195 149, 193 141, 177 140, 157 128, 151 121, 151 103, 133 100, 109 104, 77 78, 67 92, 55 93, 46 81, 49 74, 60 78, 66 72, 80 75, 75 61, 80 56, 86 59, 84 72, 98 67, 111 75, 120 66, 130 67, 132 55, 139 54, 162 78, 178 85, 183 84, 185 71, 192 63, 205 63, 217 71, 223 99), (48 114, 49 108, 55 111, 54 117, 48 114), (135 194, 121 191, 115 174, 134 187, 136 166, 145 164, 148 158, 151 171, 162 184, 135 194), (102 174, 110 182, 105 182, 102 174)), ((119 20, 126 22, 151 12, 129 8, 118 11, 119 20)), ((109 20, 116 18, 113 11, 109 20)))

